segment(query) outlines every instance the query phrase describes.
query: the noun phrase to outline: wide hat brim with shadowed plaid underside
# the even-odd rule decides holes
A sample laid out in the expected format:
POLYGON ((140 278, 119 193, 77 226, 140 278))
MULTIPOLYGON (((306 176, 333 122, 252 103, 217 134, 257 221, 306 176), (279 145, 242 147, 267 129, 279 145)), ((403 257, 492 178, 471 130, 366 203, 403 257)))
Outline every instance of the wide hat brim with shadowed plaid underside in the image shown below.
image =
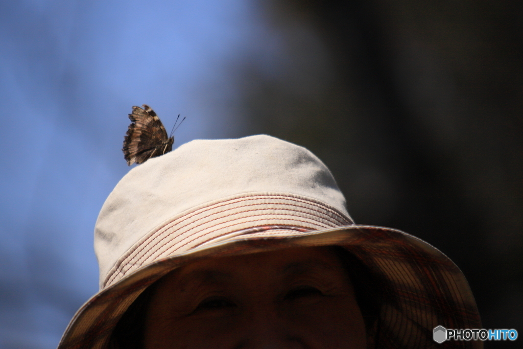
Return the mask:
MULTIPOLYGON (((173 269, 200 258, 250 254, 292 247, 345 247, 371 274, 384 280, 379 314, 383 347, 425 348, 438 325, 481 328, 479 312, 460 269, 435 247, 403 231, 353 225, 296 234, 295 231, 235 235, 141 267, 99 291, 75 314, 58 349, 106 349, 117 322, 141 292, 173 269)), ((460 347, 481 348, 480 341, 460 347)))

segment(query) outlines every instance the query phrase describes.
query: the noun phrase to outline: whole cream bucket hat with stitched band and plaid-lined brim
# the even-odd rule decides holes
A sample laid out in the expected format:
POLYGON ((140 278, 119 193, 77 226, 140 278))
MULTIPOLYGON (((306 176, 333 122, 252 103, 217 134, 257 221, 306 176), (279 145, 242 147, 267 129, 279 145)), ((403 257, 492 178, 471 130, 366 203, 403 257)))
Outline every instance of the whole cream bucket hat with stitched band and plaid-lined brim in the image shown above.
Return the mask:
POLYGON ((447 256, 402 231, 354 224, 314 154, 260 135, 195 140, 121 179, 95 227, 100 291, 76 312, 59 349, 108 348, 141 292, 198 258, 331 245, 381 280, 380 347, 439 346, 438 325, 481 328, 467 280, 447 256))

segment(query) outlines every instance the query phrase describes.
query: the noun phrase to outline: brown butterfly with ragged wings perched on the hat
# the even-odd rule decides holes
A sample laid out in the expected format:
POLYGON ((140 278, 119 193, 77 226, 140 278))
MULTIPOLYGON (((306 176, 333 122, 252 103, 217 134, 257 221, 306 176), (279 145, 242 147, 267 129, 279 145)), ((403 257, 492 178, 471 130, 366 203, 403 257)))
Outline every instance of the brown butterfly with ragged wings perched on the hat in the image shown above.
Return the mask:
MULTIPOLYGON (((129 114, 131 125, 123 139, 123 156, 129 166, 133 163, 141 164, 151 157, 163 155, 173 149, 174 127, 171 136, 167 137, 167 131, 154 110, 146 104, 142 107, 143 109, 137 106, 132 107, 132 112, 129 114)), ((184 120, 185 118, 181 122, 184 120)), ((178 126, 181 125, 181 122, 178 126)))

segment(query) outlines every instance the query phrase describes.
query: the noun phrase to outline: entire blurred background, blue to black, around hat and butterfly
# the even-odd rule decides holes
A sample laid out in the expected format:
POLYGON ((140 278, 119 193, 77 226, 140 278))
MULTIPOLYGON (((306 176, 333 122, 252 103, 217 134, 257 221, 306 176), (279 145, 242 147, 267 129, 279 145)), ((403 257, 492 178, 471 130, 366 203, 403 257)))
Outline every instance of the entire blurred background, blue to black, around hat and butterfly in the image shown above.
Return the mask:
POLYGON ((438 247, 483 327, 523 335, 523 2, 4 1, 0 100, 2 348, 55 347, 96 292, 92 231, 143 103, 187 116, 175 147, 309 148, 357 223, 438 247))

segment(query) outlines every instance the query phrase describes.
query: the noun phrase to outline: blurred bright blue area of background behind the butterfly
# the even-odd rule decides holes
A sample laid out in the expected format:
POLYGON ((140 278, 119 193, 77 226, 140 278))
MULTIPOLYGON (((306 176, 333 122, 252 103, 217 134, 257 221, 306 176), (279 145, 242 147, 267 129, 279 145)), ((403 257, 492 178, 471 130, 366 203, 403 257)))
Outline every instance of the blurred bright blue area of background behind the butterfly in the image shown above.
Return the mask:
MULTIPOLYGON (((175 147, 241 136, 242 57, 277 45, 253 2, 0 3, 0 347, 52 348, 98 288, 93 228, 129 170, 132 105, 149 104, 175 147)), ((270 54, 269 54, 270 55, 270 54)))

